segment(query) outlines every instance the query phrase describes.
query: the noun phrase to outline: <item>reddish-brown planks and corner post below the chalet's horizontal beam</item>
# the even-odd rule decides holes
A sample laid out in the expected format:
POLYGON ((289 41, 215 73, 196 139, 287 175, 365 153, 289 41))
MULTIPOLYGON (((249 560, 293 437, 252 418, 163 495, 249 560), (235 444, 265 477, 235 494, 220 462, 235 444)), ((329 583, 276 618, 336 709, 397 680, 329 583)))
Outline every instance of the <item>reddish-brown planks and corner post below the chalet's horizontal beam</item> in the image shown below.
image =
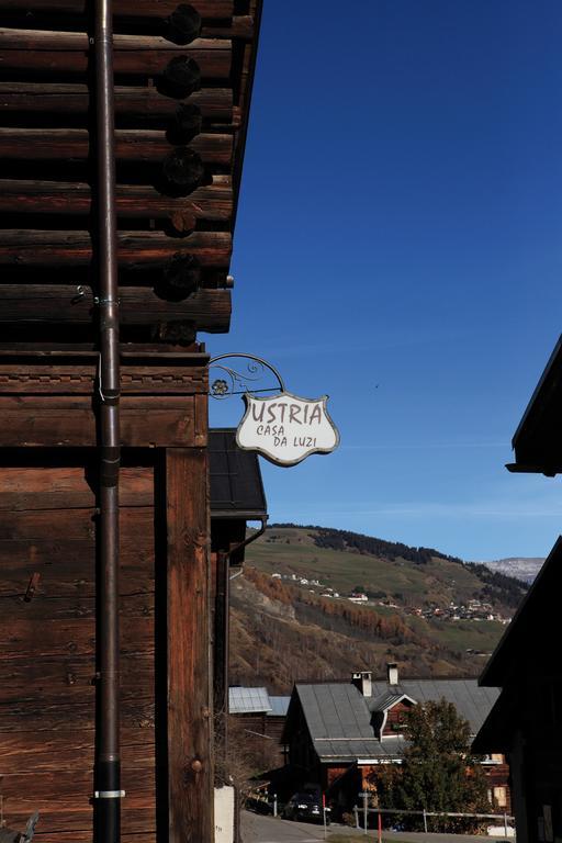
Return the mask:
MULTIPOLYGON (((156 841, 158 788, 169 807, 159 839, 211 840, 206 450, 151 454, 156 479, 150 465, 123 470, 120 509, 123 840, 156 841), (165 630, 168 655, 156 664, 165 630)), ((0 469, 0 794, 11 827, 40 811, 45 843, 92 839, 90 468, 0 469)))

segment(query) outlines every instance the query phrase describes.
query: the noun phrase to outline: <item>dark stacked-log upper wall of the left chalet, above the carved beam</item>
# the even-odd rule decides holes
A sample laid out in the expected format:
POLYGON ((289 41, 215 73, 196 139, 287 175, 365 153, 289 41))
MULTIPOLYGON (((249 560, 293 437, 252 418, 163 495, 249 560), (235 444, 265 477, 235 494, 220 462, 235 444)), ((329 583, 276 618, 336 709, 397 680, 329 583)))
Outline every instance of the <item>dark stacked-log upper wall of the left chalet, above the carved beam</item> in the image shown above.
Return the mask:
MULTIPOLYGON (((94 342, 89 4, 0 0, 0 323, 22 344, 94 342)), ((114 2, 123 342, 228 329, 256 23, 251 0, 114 2)))

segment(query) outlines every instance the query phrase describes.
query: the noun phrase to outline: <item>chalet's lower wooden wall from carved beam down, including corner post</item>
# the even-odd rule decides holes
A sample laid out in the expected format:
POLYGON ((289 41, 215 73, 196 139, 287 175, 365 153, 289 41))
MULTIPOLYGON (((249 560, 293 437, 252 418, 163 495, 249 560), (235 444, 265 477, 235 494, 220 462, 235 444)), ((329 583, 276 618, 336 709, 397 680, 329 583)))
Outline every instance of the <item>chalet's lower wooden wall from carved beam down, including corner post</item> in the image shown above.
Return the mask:
MULTIPOLYGON (((212 839, 205 363, 123 364, 122 828, 139 843, 212 839)), ((45 843, 93 833, 95 366, 0 353, 0 795, 12 828, 40 811, 45 843)))

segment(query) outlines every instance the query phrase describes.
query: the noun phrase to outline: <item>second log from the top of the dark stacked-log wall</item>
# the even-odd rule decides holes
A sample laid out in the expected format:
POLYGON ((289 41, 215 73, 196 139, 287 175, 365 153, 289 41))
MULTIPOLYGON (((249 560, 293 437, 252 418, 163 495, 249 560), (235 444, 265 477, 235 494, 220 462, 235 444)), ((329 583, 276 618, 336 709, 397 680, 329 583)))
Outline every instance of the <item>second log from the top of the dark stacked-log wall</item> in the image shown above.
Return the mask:
MULTIPOLYGON (((113 48, 115 74, 162 76, 178 58, 194 60, 203 79, 227 79, 231 72, 231 42, 221 38, 196 38, 180 47, 155 35, 114 35, 113 48)), ((3 70, 83 74, 89 54, 86 32, 0 29, 3 70)))

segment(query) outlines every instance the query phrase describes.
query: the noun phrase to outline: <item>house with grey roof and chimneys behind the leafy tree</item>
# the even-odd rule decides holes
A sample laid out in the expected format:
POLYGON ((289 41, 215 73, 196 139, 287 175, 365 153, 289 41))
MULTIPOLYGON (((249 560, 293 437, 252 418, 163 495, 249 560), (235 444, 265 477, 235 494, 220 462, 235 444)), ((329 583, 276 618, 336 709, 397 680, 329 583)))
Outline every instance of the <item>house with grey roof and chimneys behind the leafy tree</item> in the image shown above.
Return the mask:
MULTIPOLYGON (((297 683, 281 739, 293 780, 317 783, 331 800, 350 806, 359 793, 372 787, 379 765, 402 763, 405 713, 412 706, 445 698, 475 734, 497 696, 495 689, 479 687, 476 679, 402 679, 395 664, 387 665, 385 682, 361 672, 353 673, 349 683, 297 683)), ((503 755, 483 763, 491 802, 508 811, 503 755)))

